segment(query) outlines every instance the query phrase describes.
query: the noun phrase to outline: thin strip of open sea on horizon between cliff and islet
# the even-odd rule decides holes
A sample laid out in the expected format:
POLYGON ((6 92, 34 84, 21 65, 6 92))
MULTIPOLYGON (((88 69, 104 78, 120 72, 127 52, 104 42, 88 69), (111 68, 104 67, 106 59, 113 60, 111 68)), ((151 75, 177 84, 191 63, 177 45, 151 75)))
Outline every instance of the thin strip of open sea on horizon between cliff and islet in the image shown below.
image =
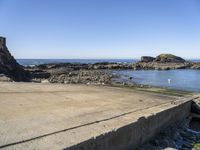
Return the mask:
POLYGON ((17 59, 23 66, 40 65, 48 63, 85 63, 94 64, 97 62, 133 63, 138 59, 17 59))

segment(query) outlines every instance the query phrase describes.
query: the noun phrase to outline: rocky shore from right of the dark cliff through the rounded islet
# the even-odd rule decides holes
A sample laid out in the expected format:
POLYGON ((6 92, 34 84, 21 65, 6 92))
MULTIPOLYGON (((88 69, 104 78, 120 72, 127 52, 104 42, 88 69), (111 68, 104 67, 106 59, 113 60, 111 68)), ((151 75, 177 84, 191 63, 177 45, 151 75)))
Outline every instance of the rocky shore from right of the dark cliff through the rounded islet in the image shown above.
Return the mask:
POLYGON ((142 57, 141 61, 132 64, 108 62, 95 64, 55 63, 27 66, 24 69, 30 73, 32 81, 43 82, 45 80, 44 82, 50 83, 101 85, 124 84, 124 81, 117 80, 118 75, 113 74, 116 70, 200 69, 200 63, 185 61, 171 54, 162 54, 156 58, 151 57, 151 59, 142 57), (162 57, 165 57, 165 59, 162 57))

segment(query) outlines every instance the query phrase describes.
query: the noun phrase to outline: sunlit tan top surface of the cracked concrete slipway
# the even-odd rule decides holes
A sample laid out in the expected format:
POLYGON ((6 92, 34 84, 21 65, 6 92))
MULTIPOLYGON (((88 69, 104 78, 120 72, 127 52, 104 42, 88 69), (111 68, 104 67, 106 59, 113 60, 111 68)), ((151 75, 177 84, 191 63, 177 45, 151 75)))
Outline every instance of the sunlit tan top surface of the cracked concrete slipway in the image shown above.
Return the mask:
POLYGON ((63 149, 171 108, 178 97, 114 87, 0 83, 0 148, 63 149))

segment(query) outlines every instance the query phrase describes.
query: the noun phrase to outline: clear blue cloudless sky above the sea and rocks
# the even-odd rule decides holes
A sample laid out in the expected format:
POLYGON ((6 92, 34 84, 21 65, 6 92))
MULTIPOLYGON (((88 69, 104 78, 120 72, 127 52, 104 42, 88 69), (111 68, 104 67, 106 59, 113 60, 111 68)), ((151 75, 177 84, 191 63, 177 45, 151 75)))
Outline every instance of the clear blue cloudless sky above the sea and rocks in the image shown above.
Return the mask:
POLYGON ((200 58, 200 0, 0 0, 16 58, 200 58))

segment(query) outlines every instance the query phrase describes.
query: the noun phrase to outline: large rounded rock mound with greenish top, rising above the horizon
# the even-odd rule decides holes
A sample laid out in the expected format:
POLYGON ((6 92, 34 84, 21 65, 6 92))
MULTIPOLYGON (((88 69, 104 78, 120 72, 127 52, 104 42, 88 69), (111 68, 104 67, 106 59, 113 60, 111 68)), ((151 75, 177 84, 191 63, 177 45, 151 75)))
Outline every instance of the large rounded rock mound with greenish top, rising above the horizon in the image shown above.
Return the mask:
POLYGON ((186 62, 183 58, 172 55, 172 54, 160 54, 155 59, 156 62, 160 63, 184 63, 186 62))

